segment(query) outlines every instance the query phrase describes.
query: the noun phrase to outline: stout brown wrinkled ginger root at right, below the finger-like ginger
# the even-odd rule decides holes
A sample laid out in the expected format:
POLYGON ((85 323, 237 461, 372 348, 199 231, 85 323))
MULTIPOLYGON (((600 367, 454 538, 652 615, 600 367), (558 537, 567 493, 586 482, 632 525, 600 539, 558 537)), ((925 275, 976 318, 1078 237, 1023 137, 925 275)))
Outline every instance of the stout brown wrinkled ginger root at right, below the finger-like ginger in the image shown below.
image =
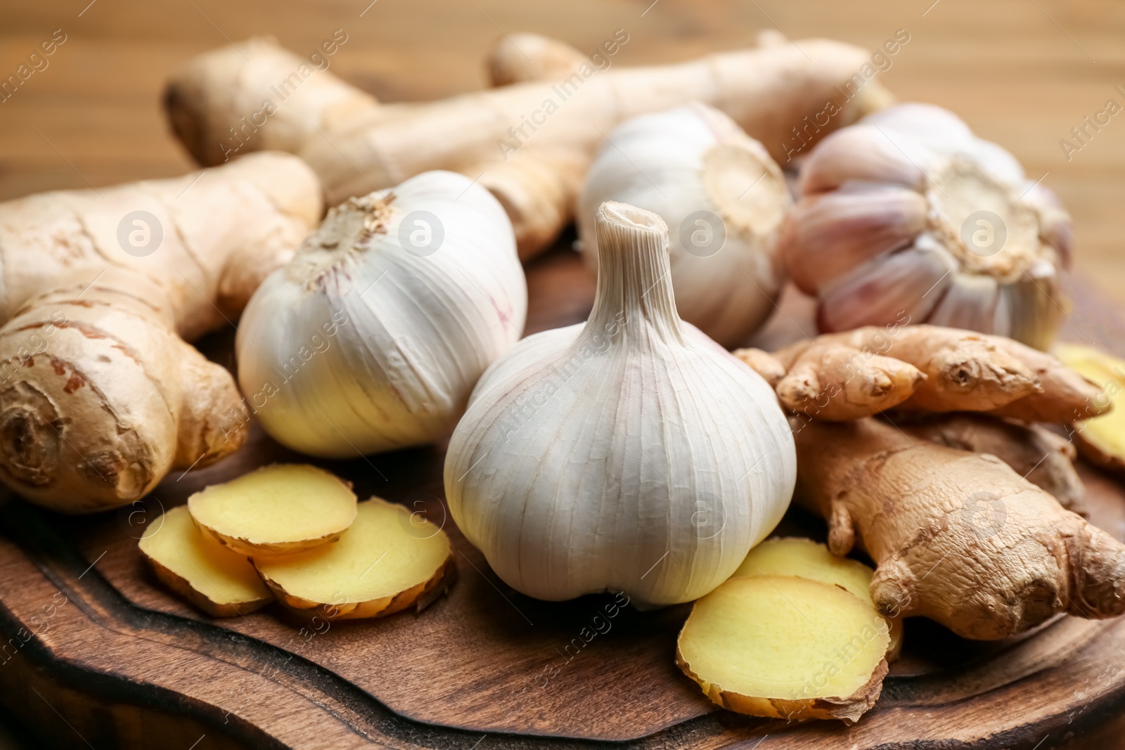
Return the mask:
POLYGON ((875 418, 794 419, 794 437, 798 501, 828 519, 832 553, 860 544, 878 563, 884 616, 994 640, 1062 612, 1125 612, 1125 545, 999 459, 875 418))

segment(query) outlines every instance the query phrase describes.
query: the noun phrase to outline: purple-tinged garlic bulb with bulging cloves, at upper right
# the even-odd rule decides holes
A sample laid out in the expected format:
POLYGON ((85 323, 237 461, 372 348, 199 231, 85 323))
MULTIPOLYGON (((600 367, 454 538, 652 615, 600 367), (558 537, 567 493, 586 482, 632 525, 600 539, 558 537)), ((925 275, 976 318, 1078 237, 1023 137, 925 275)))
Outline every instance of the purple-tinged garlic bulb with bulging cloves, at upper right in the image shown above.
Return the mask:
POLYGON ((1070 217, 953 114, 900 105, 829 135, 801 193, 780 247, 821 331, 908 319, 1051 343, 1070 217))

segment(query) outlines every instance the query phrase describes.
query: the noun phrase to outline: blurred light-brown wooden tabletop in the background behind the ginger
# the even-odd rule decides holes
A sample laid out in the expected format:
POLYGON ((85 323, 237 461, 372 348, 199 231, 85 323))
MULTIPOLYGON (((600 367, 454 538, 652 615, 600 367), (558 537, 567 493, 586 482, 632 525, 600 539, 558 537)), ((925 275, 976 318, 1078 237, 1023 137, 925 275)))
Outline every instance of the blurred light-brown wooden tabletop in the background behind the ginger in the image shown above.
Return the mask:
POLYGON ((478 61, 502 31, 592 49, 623 28, 630 40, 614 64, 632 65, 738 48, 762 29, 874 48, 903 28, 910 42, 881 79, 903 100, 958 112, 1032 179, 1045 174, 1074 216, 1077 268, 1125 300, 1125 120, 1069 161, 1059 143, 1107 99, 1125 105, 1115 89, 1125 87, 1125 6, 1113 0, 37 0, 0 3, 0 78, 57 28, 68 42, 48 67, 0 103, 0 199, 190 169, 160 111, 161 87, 227 39, 273 35, 307 51, 342 28, 333 72, 394 101, 480 88, 478 61))

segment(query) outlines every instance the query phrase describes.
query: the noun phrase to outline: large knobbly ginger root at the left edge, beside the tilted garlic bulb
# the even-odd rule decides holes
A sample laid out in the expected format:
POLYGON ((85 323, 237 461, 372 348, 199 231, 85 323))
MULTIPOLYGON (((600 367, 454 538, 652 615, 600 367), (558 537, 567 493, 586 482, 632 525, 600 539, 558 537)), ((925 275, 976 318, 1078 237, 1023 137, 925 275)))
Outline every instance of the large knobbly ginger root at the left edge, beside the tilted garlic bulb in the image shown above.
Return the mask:
POLYGON ((234 380, 184 340, 235 318, 320 214, 315 175, 272 153, 0 204, 0 480, 88 513, 242 445, 234 380))

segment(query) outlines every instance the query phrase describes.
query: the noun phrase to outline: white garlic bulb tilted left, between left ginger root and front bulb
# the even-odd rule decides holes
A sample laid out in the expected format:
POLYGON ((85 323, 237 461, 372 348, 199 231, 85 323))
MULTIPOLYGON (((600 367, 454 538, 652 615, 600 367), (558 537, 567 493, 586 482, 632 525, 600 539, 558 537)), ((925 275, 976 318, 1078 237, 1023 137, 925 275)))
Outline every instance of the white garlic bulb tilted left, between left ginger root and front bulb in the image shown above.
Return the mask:
POLYGON ((345 457, 447 434, 523 331, 528 290, 492 193, 424 172, 328 213, 243 313, 238 383, 274 440, 345 457))

